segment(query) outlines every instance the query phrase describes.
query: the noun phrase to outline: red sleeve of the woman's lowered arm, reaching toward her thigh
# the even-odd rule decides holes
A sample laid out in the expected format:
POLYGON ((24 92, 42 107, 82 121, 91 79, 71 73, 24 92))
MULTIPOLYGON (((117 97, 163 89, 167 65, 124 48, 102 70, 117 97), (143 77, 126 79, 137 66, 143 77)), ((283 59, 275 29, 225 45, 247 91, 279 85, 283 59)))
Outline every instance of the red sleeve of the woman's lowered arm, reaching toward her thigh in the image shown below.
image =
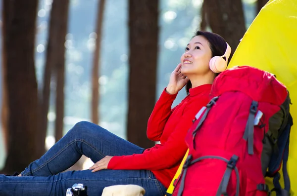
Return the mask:
MULTIPOLYGON (((200 104, 197 105, 200 106, 200 104)), ((202 107, 197 105, 188 106, 188 111, 185 109, 184 115, 179 119, 179 123, 164 145, 152 148, 143 154, 112 157, 108 163, 108 169, 160 170, 179 163, 188 149, 185 142, 187 132, 193 124, 192 120, 202 107)))

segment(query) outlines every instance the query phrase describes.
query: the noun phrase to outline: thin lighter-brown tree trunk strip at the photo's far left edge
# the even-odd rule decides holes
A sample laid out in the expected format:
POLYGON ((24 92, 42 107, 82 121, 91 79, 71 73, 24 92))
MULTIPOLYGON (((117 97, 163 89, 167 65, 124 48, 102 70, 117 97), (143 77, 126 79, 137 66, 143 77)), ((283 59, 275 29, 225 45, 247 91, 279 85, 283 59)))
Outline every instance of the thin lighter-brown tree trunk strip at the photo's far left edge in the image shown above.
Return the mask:
POLYGON ((4 152, 8 151, 8 107, 7 107, 7 84, 6 84, 6 49, 5 49, 5 33, 6 26, 9 20, 9 4, 2 2, 2 107, 1 107, 1 129, 4 143, 4 152), (6 7, 4 7, 6 6, 6 7))

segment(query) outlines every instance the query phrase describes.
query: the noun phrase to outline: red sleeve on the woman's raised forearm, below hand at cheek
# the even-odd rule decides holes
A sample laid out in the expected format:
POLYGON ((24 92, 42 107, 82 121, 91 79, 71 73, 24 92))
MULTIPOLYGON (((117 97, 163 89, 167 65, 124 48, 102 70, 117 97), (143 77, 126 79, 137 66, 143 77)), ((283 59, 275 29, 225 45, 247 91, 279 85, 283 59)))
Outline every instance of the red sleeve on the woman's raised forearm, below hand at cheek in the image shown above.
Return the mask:
POLYGON ((176 96, 177 94, 168 94, 166 92, 166 88, 163 90, 150 117, 148 118, 148 139, 155 142, 160 141, 165 124, 174 110, 174 108, 171 109, 171 106, 176 96))

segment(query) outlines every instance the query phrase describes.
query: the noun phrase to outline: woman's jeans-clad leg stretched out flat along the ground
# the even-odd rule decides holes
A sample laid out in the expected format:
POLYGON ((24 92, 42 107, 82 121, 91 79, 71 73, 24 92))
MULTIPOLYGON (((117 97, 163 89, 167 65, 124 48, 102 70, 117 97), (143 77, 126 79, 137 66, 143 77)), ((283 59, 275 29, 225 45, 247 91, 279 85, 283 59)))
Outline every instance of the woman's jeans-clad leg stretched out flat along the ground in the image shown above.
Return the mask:
POLYGON ((0 196, 65 196, 75 183, 87 186, 88 196, 101 196, 104 187, 139 185, 146 196, 164 196, 166 188, 149 170, 68 171, 49 177, 12 177, 0 175, 0 196))

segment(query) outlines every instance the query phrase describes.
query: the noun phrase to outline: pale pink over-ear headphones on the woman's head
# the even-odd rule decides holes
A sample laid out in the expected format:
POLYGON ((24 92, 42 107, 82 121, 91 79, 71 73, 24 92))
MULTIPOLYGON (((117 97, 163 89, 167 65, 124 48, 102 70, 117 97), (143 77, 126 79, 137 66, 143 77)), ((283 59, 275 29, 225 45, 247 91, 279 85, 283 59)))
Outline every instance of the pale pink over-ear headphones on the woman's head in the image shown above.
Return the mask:
POLYGON ((209 68, 211 71, 214 73, 220 73, 226 70, 227 65, 228 65, 228 58, 230 57, 231 54, 231 47, 229 44, 227 44, 227 49, 226 52, 223 56, 214 56, 210 59, 209 61, 209 68), (223 57, 226 57, 226 60, 223 59, 223 57))

